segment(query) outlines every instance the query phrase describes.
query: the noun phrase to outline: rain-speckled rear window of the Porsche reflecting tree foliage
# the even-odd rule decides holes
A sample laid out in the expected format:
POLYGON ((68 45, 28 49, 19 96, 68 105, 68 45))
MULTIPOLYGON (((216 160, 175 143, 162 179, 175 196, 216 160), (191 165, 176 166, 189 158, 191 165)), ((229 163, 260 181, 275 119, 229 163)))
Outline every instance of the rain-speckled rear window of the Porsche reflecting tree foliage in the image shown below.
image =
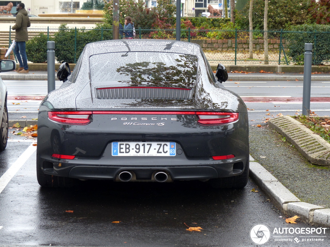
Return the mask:
POLYGON ((194 82, 197 57, 170 52, 113 52, 89 57, 92 81, 194 82))

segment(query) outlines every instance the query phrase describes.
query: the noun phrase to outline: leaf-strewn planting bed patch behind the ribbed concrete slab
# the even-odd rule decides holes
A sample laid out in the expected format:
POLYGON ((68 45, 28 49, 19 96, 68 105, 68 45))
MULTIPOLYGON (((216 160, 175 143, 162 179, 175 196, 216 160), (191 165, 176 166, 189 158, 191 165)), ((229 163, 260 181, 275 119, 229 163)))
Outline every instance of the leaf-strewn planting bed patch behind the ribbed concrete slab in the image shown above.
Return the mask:
POLYGON ((310 116, 297 116, 295 120, 304 124, 307 128, 319 134, 324 140, 330 143, 330 118, 319 118, 310 116))

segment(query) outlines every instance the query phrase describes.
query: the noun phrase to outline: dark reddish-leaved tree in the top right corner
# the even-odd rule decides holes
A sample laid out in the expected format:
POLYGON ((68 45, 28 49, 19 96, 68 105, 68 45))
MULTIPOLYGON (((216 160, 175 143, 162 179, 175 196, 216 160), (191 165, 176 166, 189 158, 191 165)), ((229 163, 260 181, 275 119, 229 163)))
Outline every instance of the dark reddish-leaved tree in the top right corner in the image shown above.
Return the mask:
POLYGON ((329 24, 330 22, 330 0, 311 1, 311 14, 316 24, 329 24))

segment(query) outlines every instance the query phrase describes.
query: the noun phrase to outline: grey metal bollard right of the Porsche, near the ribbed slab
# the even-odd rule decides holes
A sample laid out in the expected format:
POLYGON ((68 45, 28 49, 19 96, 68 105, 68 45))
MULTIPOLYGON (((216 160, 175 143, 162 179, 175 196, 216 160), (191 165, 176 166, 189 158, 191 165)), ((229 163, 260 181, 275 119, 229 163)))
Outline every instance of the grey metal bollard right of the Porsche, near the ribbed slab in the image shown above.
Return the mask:
POLYGON ((305 43, 304 58, 304 86, 303 86, 303 115, 309 115, 311 105, 311 80, 312 80, 312 43, 305 43))

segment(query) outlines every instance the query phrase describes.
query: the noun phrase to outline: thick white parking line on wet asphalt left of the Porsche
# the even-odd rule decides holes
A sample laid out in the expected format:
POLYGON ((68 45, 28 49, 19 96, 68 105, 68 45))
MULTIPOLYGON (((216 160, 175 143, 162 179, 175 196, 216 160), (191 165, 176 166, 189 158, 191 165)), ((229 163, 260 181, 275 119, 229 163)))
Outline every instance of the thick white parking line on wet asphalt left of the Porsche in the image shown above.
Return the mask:
POLYGON ((18 157, 18 159, 11 165, 11 167, 0 178, 0 193, 7 186, 9 181, 15 176, 22 165, 30 158, 30 156, 37 150, 36 146, 32 144, 18 157))

